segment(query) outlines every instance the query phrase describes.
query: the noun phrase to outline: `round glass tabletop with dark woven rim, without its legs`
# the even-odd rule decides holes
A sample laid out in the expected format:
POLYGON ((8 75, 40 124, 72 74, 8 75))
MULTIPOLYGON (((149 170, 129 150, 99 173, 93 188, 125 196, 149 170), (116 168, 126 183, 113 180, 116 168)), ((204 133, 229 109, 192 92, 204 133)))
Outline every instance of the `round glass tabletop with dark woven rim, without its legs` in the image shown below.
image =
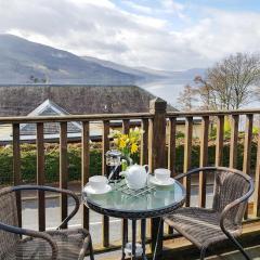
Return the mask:
POLYGON ((138 196, 117 187, 102 195, 83 192, 83 200, 89 208, 110 217, 153 218, 181 207, 185 199, 185 188, 178 181, 169 186, 150 184, 150 191, 138 196))

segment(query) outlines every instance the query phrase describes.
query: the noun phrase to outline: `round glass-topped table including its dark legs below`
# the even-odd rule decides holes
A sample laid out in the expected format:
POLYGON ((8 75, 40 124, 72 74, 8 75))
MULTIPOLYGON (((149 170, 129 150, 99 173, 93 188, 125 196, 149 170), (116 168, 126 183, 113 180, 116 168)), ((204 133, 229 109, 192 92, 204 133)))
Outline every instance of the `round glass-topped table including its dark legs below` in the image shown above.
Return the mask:
MULTIPOLYGON (((102 195, 87 194, 82 192, 83 203, 95 212, 101 214, 132 220, 131 255, 135 259, 138 250, 135 246, 136 220, 141 220, 141 246, 142 258, 145 257, 145 219, 158 218, 180 208, 185 202, 185 188, 176 181, 169 186, 148 184, 139 191, 129 190, 125 182, 114 184, 110 192, 102 195)), ((122 235, 122 259, 125 259, 127 245, 127 229, 122 235)), ((129 244, 128 244, 129 245, 129 244)))

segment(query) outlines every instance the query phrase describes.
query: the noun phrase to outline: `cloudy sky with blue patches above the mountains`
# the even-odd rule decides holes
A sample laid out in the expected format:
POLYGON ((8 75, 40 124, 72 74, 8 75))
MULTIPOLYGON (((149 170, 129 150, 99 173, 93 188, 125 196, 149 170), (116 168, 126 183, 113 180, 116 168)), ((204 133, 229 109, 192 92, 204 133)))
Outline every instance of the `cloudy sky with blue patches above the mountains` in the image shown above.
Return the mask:
POLYGON ((0 32, 167 70, 259 52, 259 25, 257 0, 0 0, 0 32))

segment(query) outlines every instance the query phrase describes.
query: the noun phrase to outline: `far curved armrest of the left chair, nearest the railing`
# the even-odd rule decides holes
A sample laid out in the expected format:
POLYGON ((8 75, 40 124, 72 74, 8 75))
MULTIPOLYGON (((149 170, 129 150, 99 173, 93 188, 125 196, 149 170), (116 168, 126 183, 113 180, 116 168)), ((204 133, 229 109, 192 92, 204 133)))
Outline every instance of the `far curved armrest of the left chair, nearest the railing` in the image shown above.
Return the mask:
POLYGON ((11 192, 30 191, 30 190, 44 191, 44 192, 54 192, 54 193, 63 193, 63 194, 67 194, 69 196, 72 196, 74 198, 74 200, 75 200, 75 208, 74 208, 74 210, 57 226, 57 230, 62 229, 79 210, 80 203, 79 203, 78 196, 74 192, 68 191, 68 190, 51 187, 51 186, 40 186, 40 185, 18 185, 18 186, 10 187, 11 192))

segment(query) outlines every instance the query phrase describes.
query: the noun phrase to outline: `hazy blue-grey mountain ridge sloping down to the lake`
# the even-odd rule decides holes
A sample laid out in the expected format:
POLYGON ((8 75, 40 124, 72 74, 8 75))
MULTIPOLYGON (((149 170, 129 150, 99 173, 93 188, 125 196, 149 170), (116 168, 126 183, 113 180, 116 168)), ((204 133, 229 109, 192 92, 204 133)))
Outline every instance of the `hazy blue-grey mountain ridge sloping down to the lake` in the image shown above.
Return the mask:
POLYGON ((188 83, 205 69, 183 72, 130 67, 35 43, 13 35, 0 35, 0 83, 146 84, 170 80, 188 83))

